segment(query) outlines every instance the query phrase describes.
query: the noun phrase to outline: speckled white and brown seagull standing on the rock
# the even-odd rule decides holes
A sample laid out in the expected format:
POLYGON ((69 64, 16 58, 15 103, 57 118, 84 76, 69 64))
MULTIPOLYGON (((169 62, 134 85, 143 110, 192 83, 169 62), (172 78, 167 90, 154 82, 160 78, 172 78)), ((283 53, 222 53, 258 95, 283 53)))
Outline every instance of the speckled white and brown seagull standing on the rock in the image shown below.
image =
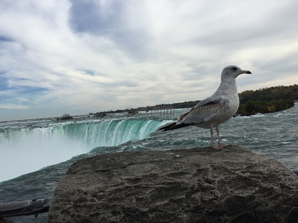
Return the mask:
POLYGON ((219 88, 210 97, 205 98, 189 112, 180 115, 176 122, 160 128, 163 131, 180 129, 186 126, 197 126, 210 129, 211 147, 219 150, 230 144, 221 144, 218 126, 232 118, 239 107, 236 77, 240 74, 251 74, 250 71, 230 65, 221 72, 219 88), (218 146, 213 143, 213 128, 216 127, 218 146))

